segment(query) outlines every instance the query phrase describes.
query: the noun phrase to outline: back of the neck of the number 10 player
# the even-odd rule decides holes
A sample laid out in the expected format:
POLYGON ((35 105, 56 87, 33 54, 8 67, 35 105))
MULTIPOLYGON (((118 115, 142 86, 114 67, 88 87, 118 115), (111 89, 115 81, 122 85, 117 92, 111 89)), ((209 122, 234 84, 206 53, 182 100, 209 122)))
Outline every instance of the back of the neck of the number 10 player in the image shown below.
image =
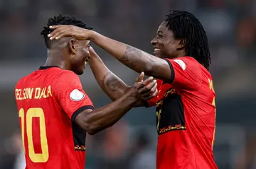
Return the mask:
POLYGON ((61 69, 70 70, 71 66, 63 56, 64 54, 60 51, 48 50, 46 63, 43 66, 58 66, 61 69))

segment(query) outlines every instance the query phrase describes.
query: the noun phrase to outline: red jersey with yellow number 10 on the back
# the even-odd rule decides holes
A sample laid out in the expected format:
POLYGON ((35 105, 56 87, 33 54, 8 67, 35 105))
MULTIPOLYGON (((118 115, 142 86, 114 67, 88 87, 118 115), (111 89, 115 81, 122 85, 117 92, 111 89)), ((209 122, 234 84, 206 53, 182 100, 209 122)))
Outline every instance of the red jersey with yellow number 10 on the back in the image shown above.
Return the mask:
POLYGON ((86 133, 74 120, 93 105, 78 75, 41 66, 18 81, 15 94, 26 168, 85 168, 86 133))

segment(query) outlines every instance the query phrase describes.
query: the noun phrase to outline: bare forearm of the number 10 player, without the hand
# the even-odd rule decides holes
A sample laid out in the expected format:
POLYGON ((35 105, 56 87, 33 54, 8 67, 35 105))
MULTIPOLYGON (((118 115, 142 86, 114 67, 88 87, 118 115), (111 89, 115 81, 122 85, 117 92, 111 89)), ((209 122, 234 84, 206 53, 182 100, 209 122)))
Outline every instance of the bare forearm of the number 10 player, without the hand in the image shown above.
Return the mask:
POLYGON ((129 95, 126 94, 109 105, 100 107, 90 113, 86 113, 84 124, 87 128, 87 132, 89 134, 96 134, 97 132, 102 131, 102 129, 111 127, 134 107, 135 103, 134 99, 129 98, 129 95))

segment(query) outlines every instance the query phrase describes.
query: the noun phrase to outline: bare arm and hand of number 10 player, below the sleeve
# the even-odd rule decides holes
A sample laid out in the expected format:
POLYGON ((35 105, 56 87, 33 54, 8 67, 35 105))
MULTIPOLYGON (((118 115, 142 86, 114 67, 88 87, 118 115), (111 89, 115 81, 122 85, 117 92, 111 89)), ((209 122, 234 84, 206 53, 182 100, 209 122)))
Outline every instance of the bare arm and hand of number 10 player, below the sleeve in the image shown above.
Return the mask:
POLYGON ((156 96, 156 81, 152 80, 153 78, 149 77, 142 83, 135 83, 129 92, 109 105, 96 110, 83 110, 75 117, 75 122, 88 134, 96 134, 111 127, 132 107, 136 107, 140 100, 145 101, 156 96))

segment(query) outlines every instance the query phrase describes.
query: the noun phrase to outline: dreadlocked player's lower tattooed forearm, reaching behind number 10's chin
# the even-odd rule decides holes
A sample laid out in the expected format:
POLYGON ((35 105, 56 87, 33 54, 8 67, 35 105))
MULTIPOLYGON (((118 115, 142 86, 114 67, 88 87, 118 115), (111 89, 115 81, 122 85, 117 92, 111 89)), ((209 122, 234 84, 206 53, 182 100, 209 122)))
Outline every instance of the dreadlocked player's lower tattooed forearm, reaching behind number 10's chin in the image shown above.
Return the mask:
POLYGON ((124 83, 124 81, 122 81, 118 76, 113 74, 95 52, 90 52, 90 54, 90 68, 92 69, 92 73, 95 76, 97 83, 111 98, 111 100, 114 101, 121 98, 129 86, 127 86, 127 84, 124 83))

